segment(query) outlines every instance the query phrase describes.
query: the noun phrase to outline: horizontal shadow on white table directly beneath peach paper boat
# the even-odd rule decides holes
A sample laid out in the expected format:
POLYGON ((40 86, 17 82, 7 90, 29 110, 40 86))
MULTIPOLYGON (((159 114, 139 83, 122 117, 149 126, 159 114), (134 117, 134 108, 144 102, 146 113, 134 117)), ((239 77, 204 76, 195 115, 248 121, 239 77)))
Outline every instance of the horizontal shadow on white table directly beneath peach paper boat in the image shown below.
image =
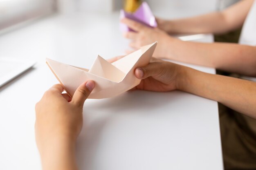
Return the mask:
POLYGON ((136 112, 141 111, 141 114, 145 112, 145 106, 147 109, 154 109, 175 101, 179 95, 177 93, 183 93, 180 91, 173 92, 151 92, 151 91, 128 91, 117 97, 112 97, 109 99, 98 99, 99 101, 86 104, 85 109, 90 112, 90 110, 95 110, 99 112, 106 112, 110 110, 112 113, 123 114, 133 114, 133 110, 136 112))

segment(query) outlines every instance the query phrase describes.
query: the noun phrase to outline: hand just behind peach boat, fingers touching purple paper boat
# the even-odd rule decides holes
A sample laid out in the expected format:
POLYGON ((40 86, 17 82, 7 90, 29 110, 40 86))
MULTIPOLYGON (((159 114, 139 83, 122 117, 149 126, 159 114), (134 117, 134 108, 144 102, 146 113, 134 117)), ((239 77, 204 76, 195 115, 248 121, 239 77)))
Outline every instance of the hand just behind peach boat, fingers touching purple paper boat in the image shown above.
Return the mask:
POLYGON ((148 26, 144 26, 143 24, 128 18, 122 19, 121 22, 136 31, 124 33, 124 37, 131 40, 130 47, 137 50, 141 46, 157 41, 154 57, 159 58, 168 56, 168 49, 173 38, 171 38, 167 33, 158 28, 149 28, 148 26))

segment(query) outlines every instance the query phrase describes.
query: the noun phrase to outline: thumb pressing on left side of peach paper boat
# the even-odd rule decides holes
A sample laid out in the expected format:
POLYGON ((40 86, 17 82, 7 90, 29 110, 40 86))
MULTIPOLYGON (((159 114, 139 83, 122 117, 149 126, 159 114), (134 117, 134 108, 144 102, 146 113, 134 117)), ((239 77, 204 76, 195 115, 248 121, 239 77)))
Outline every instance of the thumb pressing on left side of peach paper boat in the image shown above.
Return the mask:
POLYGON ((75 91, 72 101, 74 104, 78 106, 83 106, 85 100, 91 94, 92 90, 95 87, 95 82, 92 80, 88 80, 87 82, 81 84, 75 91))

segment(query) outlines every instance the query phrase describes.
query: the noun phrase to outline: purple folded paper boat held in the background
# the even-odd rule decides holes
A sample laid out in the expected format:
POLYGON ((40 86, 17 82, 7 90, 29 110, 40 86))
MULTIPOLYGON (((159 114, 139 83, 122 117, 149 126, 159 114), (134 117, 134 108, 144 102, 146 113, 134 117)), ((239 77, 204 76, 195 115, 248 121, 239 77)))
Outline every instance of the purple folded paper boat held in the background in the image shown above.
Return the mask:
MULTIPOLYGON (((141 24, 144 24, 146 26, 150 26, 153 28, 157 27, 155 16, 151 12, 147 2, 142 2, 139 8, 137 9, 137 11, 135 11, 134 13, 126 12, 123 9, 121 9, 120 19, 122 18, 129 18, 131 20, 137 21, 141 24)), ((123 23, 120 23, 120 29, 121 31, 124 31, 124 32, 133 31, 126 24, 123 24, 123 23)))

